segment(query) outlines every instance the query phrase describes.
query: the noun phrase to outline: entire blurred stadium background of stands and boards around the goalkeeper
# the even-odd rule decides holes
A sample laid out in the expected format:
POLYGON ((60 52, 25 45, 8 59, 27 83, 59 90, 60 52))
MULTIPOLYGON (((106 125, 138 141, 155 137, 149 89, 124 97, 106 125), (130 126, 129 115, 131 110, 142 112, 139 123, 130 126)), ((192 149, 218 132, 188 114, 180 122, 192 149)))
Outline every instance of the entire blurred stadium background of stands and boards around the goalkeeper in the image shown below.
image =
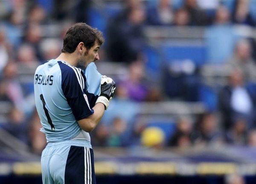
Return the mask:
POLYGON ((42 182, 34 72, 75 22, 103 32, 117 83, 98 184, 255 183, 256 0, 0 0, 1 184, 42 182))

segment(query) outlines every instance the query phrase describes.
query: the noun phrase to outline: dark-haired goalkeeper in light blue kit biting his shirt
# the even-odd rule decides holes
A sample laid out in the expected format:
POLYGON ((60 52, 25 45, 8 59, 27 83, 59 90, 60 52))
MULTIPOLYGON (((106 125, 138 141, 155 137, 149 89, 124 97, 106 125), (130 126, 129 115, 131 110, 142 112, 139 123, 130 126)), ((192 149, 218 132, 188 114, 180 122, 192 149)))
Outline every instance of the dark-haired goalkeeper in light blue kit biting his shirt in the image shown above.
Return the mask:
POLYGON ((35 103, 46 134, 41 155, 44 184, 95 184, 91 132, 116 92, 97 72, 102 33, 85 23, 66 33, 61 54, 35 71, 35 103), (84 72, 78 67, 87 69, 84 72))

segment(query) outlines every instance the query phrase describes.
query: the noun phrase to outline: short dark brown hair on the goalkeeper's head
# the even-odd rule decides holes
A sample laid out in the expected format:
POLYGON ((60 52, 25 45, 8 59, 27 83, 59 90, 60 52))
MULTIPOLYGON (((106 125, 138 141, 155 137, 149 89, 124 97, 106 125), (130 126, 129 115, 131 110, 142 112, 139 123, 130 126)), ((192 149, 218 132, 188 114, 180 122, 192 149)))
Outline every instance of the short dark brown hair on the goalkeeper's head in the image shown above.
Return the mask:
POLYGON ((67 30, 61 52, 73 53, 80 42, 84 43, 86 49, 90 49, 95 41, 99 45, 103 44, 104 38, 101 31, 86 23, 76 23, 67 30))

